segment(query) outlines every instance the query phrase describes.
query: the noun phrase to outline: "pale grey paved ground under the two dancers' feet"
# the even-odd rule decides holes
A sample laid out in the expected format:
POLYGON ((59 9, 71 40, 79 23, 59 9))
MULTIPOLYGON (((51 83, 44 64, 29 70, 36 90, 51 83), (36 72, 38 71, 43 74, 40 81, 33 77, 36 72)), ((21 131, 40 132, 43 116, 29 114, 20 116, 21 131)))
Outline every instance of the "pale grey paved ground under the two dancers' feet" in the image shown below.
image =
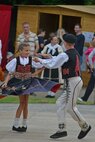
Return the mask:
MULTIPOLYGON (((58 140, 49 138, 57 130, 55 104, 29 104, 28 130, 12 132, 11 127, 18 104, 0 104, 0 142, 79 142, 78 124, 67 115, 68 137, 58 140)), ((95 142, 95 106, 79 105, 81 113, 92 125, 92 130, 81 142, 95 142)))

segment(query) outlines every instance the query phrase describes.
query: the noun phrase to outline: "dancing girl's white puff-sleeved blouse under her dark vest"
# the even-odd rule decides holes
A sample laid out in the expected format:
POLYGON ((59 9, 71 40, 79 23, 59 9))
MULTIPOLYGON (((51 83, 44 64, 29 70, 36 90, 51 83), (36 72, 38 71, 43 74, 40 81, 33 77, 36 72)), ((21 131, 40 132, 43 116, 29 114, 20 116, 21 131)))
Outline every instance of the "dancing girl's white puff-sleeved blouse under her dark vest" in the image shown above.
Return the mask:
MULTIPOLYGON (((29 58, 27 57, 27 58, 22 58, 22 57, 20 57, 20 64, 22 64, 22 65, 26 65, 26 64, 28 64, 29 63, 29 58)), ((14 59, 12 59, 7 65, 6 65, 6 69, 7 69, 7 71, 9 72, 9 73, 13 73, 13 72, 15 72, 16 71, 16 65, 17 65, 17 59, 16 58, 14 58, 14 59)), ((32 63, 31 63, 31 65, 32 65, 32 67, 34 67, 34 68, 42 68, 43 67, 43 65, 42 64, 40 64, 39 62, 34 62, 34 61, 32 61, 32 63)))

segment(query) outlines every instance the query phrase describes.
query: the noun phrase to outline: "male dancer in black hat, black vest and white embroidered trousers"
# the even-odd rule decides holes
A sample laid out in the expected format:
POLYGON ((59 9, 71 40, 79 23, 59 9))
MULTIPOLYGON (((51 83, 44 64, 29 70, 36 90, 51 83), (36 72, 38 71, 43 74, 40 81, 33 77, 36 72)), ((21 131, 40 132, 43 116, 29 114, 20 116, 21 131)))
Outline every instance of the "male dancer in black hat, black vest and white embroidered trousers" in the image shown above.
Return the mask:
POLYGON ((82 88, 83 82, 80 77, 79 54, 74 48, 76 37, 73 34, 63 36, 66 51, 51 59, 35 59, 47 68, 58 68, 61 66, 64 88, 62 95, 57 99, 58 131, 50 136, 57 139, 67 136, 66 111, 78 122, 81 131, 78 139, 84 138, 90 131, 91 126, 80 114, 76 107, 77 98, 82 88))

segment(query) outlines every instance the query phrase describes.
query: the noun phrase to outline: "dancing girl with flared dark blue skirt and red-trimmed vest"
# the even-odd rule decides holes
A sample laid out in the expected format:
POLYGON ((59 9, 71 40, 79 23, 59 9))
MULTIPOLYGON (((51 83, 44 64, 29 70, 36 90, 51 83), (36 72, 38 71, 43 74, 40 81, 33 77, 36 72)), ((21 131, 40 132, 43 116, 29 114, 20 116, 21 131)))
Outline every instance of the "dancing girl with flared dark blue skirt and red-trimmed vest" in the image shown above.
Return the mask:
POLYGON ((18 132, 26 132, 27 130, 27 116, 28 116, 28 97, 32 92, 45 92, 53 89, 55 92, 60 85, 44 79, 37 79, 35 76, 42 71, 42 65, 35 63, 30 54, 29 44, 22 43, 18 47, 20 56, 12 59, 7 65, 6 69, 9 72, 4 84, 2 85, 3 95, 18 95, 20 105, 16 111, 14 124, 12 130, 18 132), (36 72, 31 74, 32 67, 39 68, 36 72), (19 127, 20 116, 23 112, 22 127, 19 127))

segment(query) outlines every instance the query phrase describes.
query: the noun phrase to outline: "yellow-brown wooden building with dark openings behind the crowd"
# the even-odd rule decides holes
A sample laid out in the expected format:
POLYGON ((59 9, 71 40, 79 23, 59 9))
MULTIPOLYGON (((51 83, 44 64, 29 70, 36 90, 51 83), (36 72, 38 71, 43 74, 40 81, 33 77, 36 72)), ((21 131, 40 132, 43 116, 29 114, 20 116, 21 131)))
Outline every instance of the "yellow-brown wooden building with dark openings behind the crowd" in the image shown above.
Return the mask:
MULTIPOLYGON (((25 21, 30 23, 31 31, 37 33, 38 29, 43 28, 47 36, 58 28, 74 33, 76 23, 82 25, 83 31, 95 32, 95 6, 18 6, 16 36, 22 32, 22 23, 25 21)), ((82 75, 86 86, 89 75, 87 72, 82 75)))

